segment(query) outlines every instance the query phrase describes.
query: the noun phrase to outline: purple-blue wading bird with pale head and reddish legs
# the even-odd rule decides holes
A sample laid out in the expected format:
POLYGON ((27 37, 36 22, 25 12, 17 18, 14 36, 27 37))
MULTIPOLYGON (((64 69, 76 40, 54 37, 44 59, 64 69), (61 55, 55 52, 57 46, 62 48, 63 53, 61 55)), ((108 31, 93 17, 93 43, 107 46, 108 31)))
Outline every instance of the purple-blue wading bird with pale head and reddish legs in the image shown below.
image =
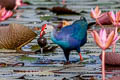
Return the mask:
MULTIPOLYGON (((94 23, 90 24, 93 25, 94 23)), ((52 25, 47 25, 45 32, 51 32, 51 40, 59 45, 64 52, 67 63, 69 62, 69 55, 71 50, 76 50, 80 56, 80 60, 83 60, 80 47, 87 42, 87 29, 89 24, 85 17, 81 17, 80 20, 76 20, 71 25, 65 26, 60 30, 52 25)))

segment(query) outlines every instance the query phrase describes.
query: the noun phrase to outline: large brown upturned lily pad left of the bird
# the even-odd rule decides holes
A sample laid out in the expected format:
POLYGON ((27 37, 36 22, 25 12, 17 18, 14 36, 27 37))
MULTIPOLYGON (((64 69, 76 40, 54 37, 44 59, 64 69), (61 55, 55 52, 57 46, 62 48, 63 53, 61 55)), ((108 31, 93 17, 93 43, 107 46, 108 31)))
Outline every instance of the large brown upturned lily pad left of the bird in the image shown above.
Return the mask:
POLYGON ((37 34, 21 24, 10 24, 0 27, 0 48, 20 50, 32 41, 37 34))

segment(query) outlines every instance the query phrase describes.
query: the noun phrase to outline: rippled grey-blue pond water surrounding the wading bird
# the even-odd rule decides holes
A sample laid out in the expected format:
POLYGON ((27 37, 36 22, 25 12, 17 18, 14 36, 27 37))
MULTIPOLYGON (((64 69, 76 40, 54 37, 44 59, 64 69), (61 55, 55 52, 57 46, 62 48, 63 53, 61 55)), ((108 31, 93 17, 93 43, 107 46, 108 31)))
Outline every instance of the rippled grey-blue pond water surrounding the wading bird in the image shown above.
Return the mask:
MULTIPOLYGON (((119 0, 67 0, 67 8, 72 9, 76 12, 81 12, 81 15, 59 15, 48 11, 48 10, 37 10, 38 7, 48 7, 53 6, 63 6, 61 0, 25 0, 32 3, 32 5, 23 6, 18 9, 18 13, 7 21, 1 22, 0 25, 7 25, 9 23, 18 23, 33 27, 41 27, 45 23, 52 23, 56 25, 55 22, 59 20, 54 20, 52 17, 58 17, 63 19, 68 19, 71 22, 80 18, 80 16, 85 16, 88 22, 93 21, 90 18, 89 12, 91 8, 95 8, 99 5, 102 11, 119 10, 120 1, 119 0), (84 11, 84 12, 83 12, 84 11), (82 13, 83 12, 83 13, 82 13), (39 13, 39 14, 38 14, 39 13), (44 18, 47 16, 46 18, 44 18), (16 18, 19 17, 19 18, 16 18)), ((39 31, 36 32, 39 37, 39 31)), ((49 39, 49 34, 46 35, 49 39)), ((24 46, 22 49, 24 51, 34 52, 39 49, 37 46, 37 41, 34 39, 32 42, 24 46), (35 47, 36 46, 36 47, 35 47)), ((52 41, 48 41, 49 45, 56 46, 52 41)), ((119 43, 117 43, 116 52, 119 51, 119 43)), ((70 61, 72 64, 64 65, 64 55, 61 48, 56 48, 52 52, 47 52, 45 54, 0 54, 0 62, 7 63, 6 67, 0 68, 0 79, 5 80, 20 80, 22 78, 27 80, 89 80, 94 77, 95 80, 101 79, 101 60, 99 55, 101 49, 99 49, 93 38, 88 34, 87 43, 81 48, 83 53, 84 61, 79 60, 79 56, 76 52, 72 51, 70 55, 70 61), (92 46, 92 47, 91 47, 92 46), (23 67, 13 67, 14 64, 21 62, 24 63, 23 67), (66 78, 66 79, 65 79, 66 78), (83 79, 81 79, 83 78, 83 79)), ((111 50, 107 50, 111 52, 111 50)), ((119 68, 113 70, 107 70, 106 78, 114 76, 119 76, 119 68), (108 73, 114 72, 114 73, 108 73), (117 74, 115 74, 117 72, 117 74)))

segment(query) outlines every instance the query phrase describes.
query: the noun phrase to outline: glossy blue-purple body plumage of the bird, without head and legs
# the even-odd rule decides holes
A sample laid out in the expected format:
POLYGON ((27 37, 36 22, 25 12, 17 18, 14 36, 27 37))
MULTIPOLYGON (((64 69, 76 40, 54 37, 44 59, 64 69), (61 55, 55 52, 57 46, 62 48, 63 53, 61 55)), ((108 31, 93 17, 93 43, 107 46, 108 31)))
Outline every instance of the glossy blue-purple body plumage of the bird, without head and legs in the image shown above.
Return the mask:
POLYGON ((86 42, 87 22, 78 20, 72 25, 53 31, 51 39, 64 48, 80 47, 86 42))

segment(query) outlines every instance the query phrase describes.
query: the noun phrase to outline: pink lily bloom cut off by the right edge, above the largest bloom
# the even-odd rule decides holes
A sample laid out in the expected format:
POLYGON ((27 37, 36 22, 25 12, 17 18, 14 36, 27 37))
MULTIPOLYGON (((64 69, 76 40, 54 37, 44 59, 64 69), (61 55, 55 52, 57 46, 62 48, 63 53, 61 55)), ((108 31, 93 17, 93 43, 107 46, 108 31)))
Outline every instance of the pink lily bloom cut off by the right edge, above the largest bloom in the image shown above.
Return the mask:
POLYGON ((116 14, 114 14, 113 11, 108 13, 111 22, 115 25, 115 26, 120 26, 120 11, 118 11, 116 14))

